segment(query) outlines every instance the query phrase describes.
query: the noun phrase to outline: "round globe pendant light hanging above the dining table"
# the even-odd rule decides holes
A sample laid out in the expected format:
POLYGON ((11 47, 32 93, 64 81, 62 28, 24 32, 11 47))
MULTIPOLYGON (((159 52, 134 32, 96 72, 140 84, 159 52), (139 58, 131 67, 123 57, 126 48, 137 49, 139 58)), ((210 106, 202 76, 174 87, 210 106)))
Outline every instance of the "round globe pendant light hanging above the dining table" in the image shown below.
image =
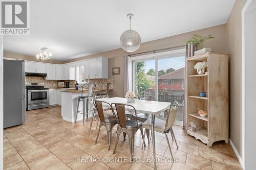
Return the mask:
POLYGON ((131 30, 131 22, 133 14, 127 14, 127 18, 130 19, 130 29, 126 30, 122 33, 120 37, 120 45, 126 52, 135 52, 139 49, 141 39, 139 33, 137 33, 135 30, 131 30))

